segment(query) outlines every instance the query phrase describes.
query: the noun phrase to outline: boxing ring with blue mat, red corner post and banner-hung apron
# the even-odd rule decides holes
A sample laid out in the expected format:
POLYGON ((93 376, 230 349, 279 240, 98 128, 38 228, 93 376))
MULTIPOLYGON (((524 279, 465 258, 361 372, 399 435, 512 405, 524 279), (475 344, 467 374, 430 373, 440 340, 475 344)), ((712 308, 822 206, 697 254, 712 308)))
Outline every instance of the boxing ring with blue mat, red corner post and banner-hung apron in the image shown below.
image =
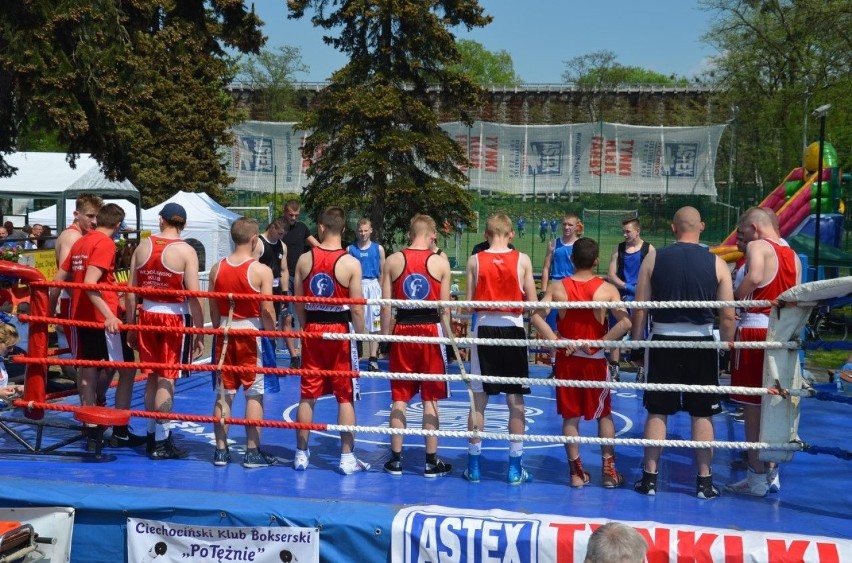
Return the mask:
MULTIPOLYGON (((426 479, 422 475, 423 440, 418 416, 421 405, 417 400, 408 410, 404 474, 392 476, 381 470, 388 457, 391 432, 386 373, 362 373, 362 399, 356 405, 356 452, 373 469, 348 476, 335 472, 339 427, 320 421, 336 419, 336 403, 333 398, 324 398, 317 402, 316 423, 312 425, 311 467, 305 472, 294 471, 293 428, 299 381, 293 376, 300 371, 288 369, 286 357, 279 357, 280 369, 273 370, 282 376, 280 392, 265 397, 268 426, 263 429, 262 443, 265 451, 283 462, 277 466, 244 469, 239 465, 245 434, 237 423, 230 432, 235 442, 231 446, 235 462, 227 467, 214 467, 211 463, 214 439, 210 413, 216 396, 209 359, 207 364, 194 366, 192 375, 179 379, 176 385, 173 417, 176 421, 172 432, 177 444, 189 451, 186 459, 150 461, 144 448, 110 448, 96 457, 86 454, 80 444, 73 442, 56 448, 76 452, 69 455, 51 455, 49 451, 15 453, 12 450, 20 446, 21 440, 35 439, 37 434, 40 445, 51 448, 69 439, 69 432, 74 432, 69 426, 91 420, 86 418, 85 411, 82 418, 86 420, 81 420, 77 397, 51 399, 45 396, 43 384, 40 389, 38 380, 45 376, 47 366, 62 361, 46 358, 46 339, 44 348, 38 352, 36 333, 39 323, 47 323, 46 300, 45 306, 39 308, 42 289, 38 283, 32 287, 31 347, 28 358, 21 358, 27 362, 26 393, 15 402, 14 411, 3 415, 2 423, 19 438, 0 432, 0 449, 5 452, 0 456, 3 467, 0 495, 2 503, 10 507, 72 507, 75 511, 72 561, 143 560, 128 556, 128 538, 148 522, 168 523, 172 529, 177 526, 234 531, 310 529, 318 538, 319 560, 329 562, 489 558, 573 561, 582 556, 593 527, 608 520, 640 528, 652 544, 649 561, 690 560, 689 557, 699 561, 852 558, 849 525, 852 492, 843 480, 849 465, 848 458, 844 459, 848 452, 842 450, 846 447, 849 401, 844 401, 833 387, 818 388, 817 392, 839 400, 817 401, 806 398, 808 393, 799 392, 796 368, 785 363, 797 353, 797 346, 789 337, 782 338, 780 332, 776 332, 777 345, 768 347, 771 352, 767 356, 776 358, 773 369, 781 392, 767 398, 782 402, 784 409, 791 405, 793 409, 780 415, 786 424, 781 425, 783 430, 761 439, 765 440, 762 446, 769 455, 784 458, 782 491, 765 498, 725 492, 713 500, 696 498, 692 452, 684 447, 689 445, 689 419, 680 414, 669 419, 668 438, 672 442, 666 443, 660 461, 660 492, 655 497, 646 497, 634 492, 631 486, 640 474, 642 460, 645 411, 640 389, 645 386, 636 384, 631 374, 624 372, 622 383, 613 385, 616 456, 627 484, 619 489, 600 487, 596 461, 600 442, 597 438, 581 438, 586 469, 592 471, 593 480, 590 486, 571 488, 561 439, 562 421, 556 415, 555 384, 547 379, 549 366, 539 365, 531 366, 535 386, 526 397, 524 466, 533 473, 534 480, 522 486, 511 486, 505 481, 507 411, 500 399, 490 401, 486 427, 481 429, 485 436, 482 481, 469 483, 462 478, 467 458, 469 409, 464 378, 472 376, 458 363, 448 369, 455 376, 451 382, 452 397, 440 405, 439 454, 454 466, 453 473, 441 479, 426 479), (205 365, 207 369, 203 369, 205 365), (40 424, 33 425, 32 421, 40 424), (52 426, 53 423, 57 426, 52 426), (804 442, 791 440, 791 432, 804 442), (813 444, 826 447, 814 448, 813 444), (812 455, 830 453, 828 446, 840 448, 836 448, 834 455, 812 455)), ((806 298, 817 301, 836 294, 836 288, 820 294, 825 288, 814 287, 809 293, 797 295, 781 311, 799 309, 796 314, 804 314, 806 319, 809 310, 806 298), (796 307, 797 304, 801 307, 796 307)), ((469 339, 454 338, 451 343, 465 346, 469 339)), ((380 361, 380 366, 387 371, 385 360, 380 361)), ((366 362, 362 362, 361 368, 366 368, 366 362)), ((771 370, 767 373, 773 374, 771 370)), ((767 387, 776 386, 773 383, 767 387)), ((136 383, 131 410, 127 413, 136 433, 144 429, 145 417, 153 416, 143 410, 143 388, 144 383, 136 383)), ((107 404, 113 404, 112 391, 107 404)), ((231 413, 235 422, 240 421, 243 406, 244 401, 238 395, 231 413)), ((96 415, 110 419, 109 413, 88 416, 96 415)), ((124 413, 119 416, 123 417, 124 413)), ((733 406, 714 418, 714 428, 718 442, 714 444, 713 462, 716 483, 722 485, 741 479, 745 472, 732 466, 736 467, 739 460, 738 448, 742 447, 744 431, 733 406)), ((581 433, 596 435, 595 423, 581 423, 581 433)), ((162 528, 157 529, 164 534, 162 528)), ((242 541, 229 537, 214 543, 234 547, 242 541)), ((264 540, 269 538, 261 534, 254 543, 269 543, 264 540)), ((152 543, 151 549, 155 550, 159 543, 152 543)), ((239 560, 216 559, 211 547, 203 549, 209 551, 193 552, 194 555, 184 556, 182 560, 239 560)), ((171 558, 151 553, 148 560, 179 560, 176 555, 171 558)), ((227 553, 239 557, 243 552, 234 548, 227 553)), ((275 559, 262 560, 284 561, 283 553, 280 559, 276 551, 275 559)), ((267 556, 269 552, 260 555, 267 556)))

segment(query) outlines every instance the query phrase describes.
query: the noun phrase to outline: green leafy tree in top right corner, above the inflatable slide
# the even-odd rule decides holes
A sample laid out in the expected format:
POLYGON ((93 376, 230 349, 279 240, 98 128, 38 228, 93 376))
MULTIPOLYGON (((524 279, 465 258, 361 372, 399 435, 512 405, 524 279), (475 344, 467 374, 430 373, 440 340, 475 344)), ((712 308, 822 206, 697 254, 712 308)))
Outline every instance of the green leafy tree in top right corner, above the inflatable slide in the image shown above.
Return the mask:
POLYGON ((703 0, 701 5, 719 14, 704 36, 720 53, 707 78, 718 86, 717 104, 739 107, 737 176, 774 188, 801 164, 802 145, 817 140, 817 127, 803 129, 810 111, 826 103, 833 106, 826 140, 847 155, 841 164, 849 165, 849 2, 703 0))

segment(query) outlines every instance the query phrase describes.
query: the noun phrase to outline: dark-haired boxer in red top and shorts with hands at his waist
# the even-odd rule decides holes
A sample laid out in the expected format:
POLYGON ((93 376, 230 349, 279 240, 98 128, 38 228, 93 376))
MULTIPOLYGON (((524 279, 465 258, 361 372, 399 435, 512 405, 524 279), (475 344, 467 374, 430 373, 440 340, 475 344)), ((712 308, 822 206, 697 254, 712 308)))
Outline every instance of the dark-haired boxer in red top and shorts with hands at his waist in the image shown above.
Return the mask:
MULTIPOLYGON (((590 238, 581 238, 574 243, 571 261, 574 273, 547 286, 542 301, 562 303, 566 301, 621 301, 614 285, 595 275, 600 249, 598 243, 590 238)), ((608 326, 607 309, 559 309, 556 326, 559 336, 545 320, 547 309, 538 309, 530 322, 542 337, 558 340, 559 336, 570 340, 620 340, 630 330, 630 316, 626 309, 612 309, 616 322, 608 326)), ((573 381, 607 381, 610 371, 607 367, 603 348, 569 346, 560 348, 556 353, 556 379, 573 381)), ((557 387, 556 407, 562 415, 562 433, 565 436, 580 435, 580 418, 598 421, 598 436, 614 438, 615 425, 612 422, 611 394, 609 389, 557 387)), ((589 483, 589 474, 580 461, 579 444, 565 444, 568 454, 568 467, 571 470, 571 486, 582 487, 589 483)), ((624 477, 615 469, 615 454, 612 446, 601 446, 602 485, 613 489, 624 483, 624 477)))

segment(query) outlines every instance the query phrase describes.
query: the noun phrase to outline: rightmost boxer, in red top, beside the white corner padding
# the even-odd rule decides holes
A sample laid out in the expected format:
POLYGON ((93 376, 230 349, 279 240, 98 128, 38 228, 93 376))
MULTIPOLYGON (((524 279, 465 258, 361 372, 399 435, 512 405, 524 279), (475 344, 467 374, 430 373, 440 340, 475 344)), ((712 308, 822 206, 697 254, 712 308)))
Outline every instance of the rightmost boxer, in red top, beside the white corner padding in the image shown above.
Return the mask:
MULTIPOLYGON (((737 222, 737 240, 747 243, 745 274, 737 287, 737 299, 773 300, 801 281, 799 257, 779 236, 774 213, 760 207, 747 209, 737 222)), ((745 309, 737 327, 737 340, 765 341, 770 311, 771 307, 745 309)), ((736 350, 731 385, 763 387, 763 357, 763 350, 736 350)), ((743 405, 746 441, 760 441, 761 398, 755 395, 731 398, 743 405)), ((728 485, 730 491, 762 497, 780 490, 777 466, 761 461, 757 450, 748 451, 748 464, 748 475, 728 485)))

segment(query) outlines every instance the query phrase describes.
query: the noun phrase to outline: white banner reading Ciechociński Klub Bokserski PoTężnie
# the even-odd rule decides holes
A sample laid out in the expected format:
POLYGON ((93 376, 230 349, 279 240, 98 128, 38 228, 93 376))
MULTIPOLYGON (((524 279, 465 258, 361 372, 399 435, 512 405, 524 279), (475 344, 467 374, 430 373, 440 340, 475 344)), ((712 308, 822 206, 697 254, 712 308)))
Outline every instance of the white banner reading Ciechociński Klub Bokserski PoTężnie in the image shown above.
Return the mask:
POLYGON ((319 561, 315 528, 237 528, 127 519, 130 563, 319 561))

